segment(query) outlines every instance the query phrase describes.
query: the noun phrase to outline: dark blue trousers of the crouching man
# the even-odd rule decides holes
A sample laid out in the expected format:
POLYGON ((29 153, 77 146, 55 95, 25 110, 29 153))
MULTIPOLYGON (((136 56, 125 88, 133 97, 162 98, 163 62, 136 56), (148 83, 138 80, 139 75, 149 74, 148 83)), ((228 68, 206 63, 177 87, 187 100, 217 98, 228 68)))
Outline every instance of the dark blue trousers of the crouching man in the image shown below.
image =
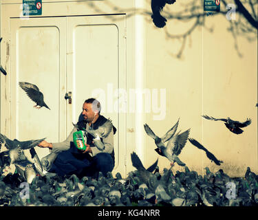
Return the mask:
POLYGON ((99 172, 107 175, 113 168, 114 159, 109 153, 98 153, 91 157, 88 153, 81 153, 75 146, 71 146, 69 150, 58 153, 48 172, 61 176, 75 174, 79 178, 83 176, 96 178, 99 172))

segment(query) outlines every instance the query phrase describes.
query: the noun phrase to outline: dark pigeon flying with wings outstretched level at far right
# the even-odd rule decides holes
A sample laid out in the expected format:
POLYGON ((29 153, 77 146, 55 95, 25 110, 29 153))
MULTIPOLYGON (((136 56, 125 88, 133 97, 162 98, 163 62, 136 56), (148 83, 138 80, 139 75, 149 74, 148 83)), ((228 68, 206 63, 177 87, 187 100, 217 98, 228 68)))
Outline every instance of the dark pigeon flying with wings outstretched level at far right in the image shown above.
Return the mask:
POLYGON ((239 121, 231 120, 230 118, 213 118, 213 117, 209 117, 208 115, 202 115, 202 117, 208 120, 215 120, 215 121, 220 120, 225 122, 225 125, 228 128, 228 130, 237 135, 244 132, 240 128, 244 128, 245 126, 248 126, 252 122, 250 118, 247 118, 245 122, 239 122, 239 121))

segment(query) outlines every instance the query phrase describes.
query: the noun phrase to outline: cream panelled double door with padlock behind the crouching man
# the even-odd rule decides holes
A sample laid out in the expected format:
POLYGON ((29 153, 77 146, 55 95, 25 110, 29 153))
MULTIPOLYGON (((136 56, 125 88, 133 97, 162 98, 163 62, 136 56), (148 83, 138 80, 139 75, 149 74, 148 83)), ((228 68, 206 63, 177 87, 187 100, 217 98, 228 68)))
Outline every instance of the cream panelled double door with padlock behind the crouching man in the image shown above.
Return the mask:
MULTIPOLYGON (((97 98, 101 114, 117 128, 114 173, 125 175, 126 114, 111 102, 126 89, 125 25, 122 14, 11 19, 10 136, 62 142, 83 102, 97 98), (39 87, 50 109, 34 109, 19 82, 39 87)), ((38 147, 36 152, 40 158, 49 153, 38 147)))

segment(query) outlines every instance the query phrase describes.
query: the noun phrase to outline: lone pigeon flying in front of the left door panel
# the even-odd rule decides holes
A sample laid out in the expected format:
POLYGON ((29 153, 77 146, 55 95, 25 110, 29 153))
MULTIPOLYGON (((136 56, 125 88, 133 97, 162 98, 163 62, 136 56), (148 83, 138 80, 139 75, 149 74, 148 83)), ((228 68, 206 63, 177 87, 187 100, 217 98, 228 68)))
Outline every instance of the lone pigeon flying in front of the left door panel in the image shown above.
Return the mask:
POLYGON ((47 104, 44 102, 44 96, 41 91, 39 91, 39 88, 32 84, 27 82, 19 82, 19 85, 21 89, 23 89, 26 94, 29 96, 29 98, 36 102, 36 105, 34 105, 34 108, 41 109, 41 107, 46 107, 47 109, 50 109, 47 104))

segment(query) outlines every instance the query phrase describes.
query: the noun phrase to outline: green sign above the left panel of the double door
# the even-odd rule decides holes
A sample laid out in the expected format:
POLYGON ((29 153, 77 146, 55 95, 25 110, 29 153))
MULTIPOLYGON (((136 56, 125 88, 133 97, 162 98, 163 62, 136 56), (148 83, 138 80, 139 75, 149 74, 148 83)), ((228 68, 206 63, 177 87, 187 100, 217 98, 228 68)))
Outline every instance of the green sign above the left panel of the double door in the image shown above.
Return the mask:
POLYGON ((23 16, 41 15, 42 0, 23 0, 23 16))

